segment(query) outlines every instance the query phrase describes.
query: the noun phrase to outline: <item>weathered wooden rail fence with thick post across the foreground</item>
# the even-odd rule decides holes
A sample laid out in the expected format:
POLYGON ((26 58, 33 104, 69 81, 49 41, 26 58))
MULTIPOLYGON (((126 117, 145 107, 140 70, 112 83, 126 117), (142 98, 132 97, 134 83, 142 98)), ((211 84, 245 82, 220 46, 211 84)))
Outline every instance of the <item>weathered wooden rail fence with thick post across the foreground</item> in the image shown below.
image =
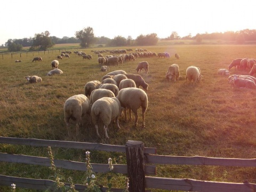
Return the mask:
MULTIPOLYGON (((213 182, 201 181, 194 179, 173 179, 159 178, 146 175, 156 174, 156 164, 172 164, 172 165, 221 165, 221 166, 256 166, 256 159, 237 159, 237 158, 213 158, 213 157, 182 157, 182 156, 163 156, 156 155, 156 148, 144 147, 141 141, 127 141, 125 146, 105 145, 101 143, 84 143, 71 141, 52 141, 38 139, 20 139, 0 137, 0 143, 8 143, 12 145, 28 145, 43 147, 61 147, 86 150, 103 150, 126 153, 126 165, 114 164, 113 172, 127 174, 129 177, 129 191, 146 191, 150 189, 165 190, 182 190, 182 191, 221 191, 233 192, 256 191, 254 183, 231 183, 231 182, 213 182), (150 165, 148 165, 150 164, 150 165), (152 165, 153 164, 153 165, 152 165)), ((15 155, 0 153, 0 161, 10 163, 25 163, 32 165, 51 166, 50 159, 46 157, 35 157, 27 155, 15 155)), ((70 170, 86 171, 86 165, 83 162, 67 161, 62 159, 54 159, 57 167, 70 170)), ((108 164, 93 164, 94 172, 108 172, 108 164)), ((11 186, 15 183, 17 187, 37 189, 37 190, 53 190, 55 182, 52 180, 17 178, 6 175, 0 175, 0 185, 11 186)), ((66 183, 69 185, 69 183, 66 183)), ((76 190, 83 191, 84 185, 75 185, 76 190)), ((106 187, 101 188, 106 191, 106 187)), ((112 189, 114 192, 121 192, 123 189, 112 189)))

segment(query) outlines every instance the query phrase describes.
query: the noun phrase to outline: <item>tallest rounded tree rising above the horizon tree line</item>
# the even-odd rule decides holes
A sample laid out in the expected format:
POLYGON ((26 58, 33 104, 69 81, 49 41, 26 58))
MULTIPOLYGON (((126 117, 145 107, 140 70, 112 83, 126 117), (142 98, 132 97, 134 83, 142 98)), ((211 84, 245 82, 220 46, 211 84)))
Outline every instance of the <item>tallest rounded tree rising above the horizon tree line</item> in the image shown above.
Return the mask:
POLYGON ((83 30, 76 31, 75 35, 76 38, 78 38, 81 41, 81 47, 89 47, 93 43, 94 34, 92 27, 87 27, 83 30))

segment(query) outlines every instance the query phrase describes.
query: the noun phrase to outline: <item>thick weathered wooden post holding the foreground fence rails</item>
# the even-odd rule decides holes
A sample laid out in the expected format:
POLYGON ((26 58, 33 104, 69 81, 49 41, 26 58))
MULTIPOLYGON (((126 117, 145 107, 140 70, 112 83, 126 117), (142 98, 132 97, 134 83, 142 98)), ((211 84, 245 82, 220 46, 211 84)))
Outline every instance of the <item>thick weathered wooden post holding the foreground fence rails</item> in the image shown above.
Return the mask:
POLYGON ((142 141, 127 141, 125 144, 127 173, 130 192, 145 192, 145 161, 142 141))

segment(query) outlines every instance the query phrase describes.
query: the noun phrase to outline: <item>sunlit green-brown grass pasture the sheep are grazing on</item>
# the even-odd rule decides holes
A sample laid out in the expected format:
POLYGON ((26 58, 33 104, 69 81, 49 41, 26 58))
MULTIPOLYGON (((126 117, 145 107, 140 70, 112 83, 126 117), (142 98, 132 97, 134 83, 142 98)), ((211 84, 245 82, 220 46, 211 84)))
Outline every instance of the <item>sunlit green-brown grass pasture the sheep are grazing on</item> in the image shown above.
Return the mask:
MULTIPOLYGON (((129 47, 130 48, 130 47, 129 47)), ((131 47, 133 50, 140 47, 131 47)), ((103 49, 103 48, 102 48, 103 49)), ((106 49, 106 48, 104 48, 106 49)), ((112 48, 111 48, 112 49, 112 48)), ((114 48, 113 48, 114 49, 114 48)), ((118 49, 121 49, 118 47, 118 49)), ((43 61, 31 62, 38 52, 4 55, 0 57, 0 135, 2 137, 36 138, 50 140, 72 140, 102 142, 125 145, 127 140, 140 140, 145 147, 156 147, 158 155, 208 156, 230 158, 255 158, 256 156, 256 90, 233 89, 226 76, 218 76, 219 68, 227 68, 236 58, 255 58, 255 45, 174 45, 143 47, 148 51, 169 52, 171 58, 139 58, 135 61, 110 66, 110 71, 125 70, 136 73, 139 61, 149 63, 149 73, 141 76, 149 84, 146 127, 120 118, 121 130, 110 128, 109 140, 98 139, 94 127, 81 128, 78 138, 69 138, 63 119, 63 103, 75 94, 84 93, 86 82, 99 80, 106 73, 99 69, 97 55, 92 60, 83 60, 75 54, 60 61, 60 76, 45 76, 50 71, 51 61, 57 59, 59 51, 40 52, 43 61), (174 58, 179 53, 180 59, 174 58), (33 55, 34 54, 34 55, 33 55), (15 60, 22 60, 15 63, 15 60), (180 67, 180 75, 186 76, 188 66, 201 69, 202 81, 191 85, 185 79, 176 83, 167 82, 165 73, 173 63, 180 67), (29 84, 25 77, 41 76, 42 83, 29 84)), ((95 49, 93 49, 95 50, 95 49)), ((92 54, 91 49, 83 49, 92 54)), ((108 53, 109 54, 109 53, 108 53)), ((104 54, 106 55, 106 53, 104 54)), ((249 71, 231 69, 230 74, 249 74, 249 71)), ((74 130, 73 126, 73 130, 74 130)), ((102 130, 100 134, 103 135, 102 130)), ((0 145, 1 153, 40 155, 47 157, 44 148, 0 145)), ((83 150, 53 149, 55 158, 81 161, 83 150)), ((93 151, 92 163, 107 163, 109 157, 124 163, 118 153, 93 151)), ((0 174, 16 177, 48 179, 49 169, 1 163, 0 174)), ((64 171, 63 171, 64 172, 64 171)), ((67 171, 74 175, 75 183, 82 183, 83 173, 67 171)), ((220 166, 157 166, 157 177, 190 178, 198 180, 255 183, 255 168, 220 166)), ((124 178, 116 179, 113 187, 123 187, 124 178)), ((1 188, 0 188, 1 189, 1 188)), ((22 190, 28 191, 28 190, 22 190)), ((164 190, 154 190, 164 191, 164 190)))

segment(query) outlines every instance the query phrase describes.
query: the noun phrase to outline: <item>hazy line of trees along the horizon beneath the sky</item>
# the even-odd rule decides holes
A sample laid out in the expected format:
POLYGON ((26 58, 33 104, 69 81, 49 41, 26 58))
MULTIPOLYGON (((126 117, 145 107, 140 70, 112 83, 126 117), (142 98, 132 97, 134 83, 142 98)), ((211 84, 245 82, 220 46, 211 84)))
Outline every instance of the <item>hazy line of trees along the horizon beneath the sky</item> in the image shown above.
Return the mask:
MULTIPOLYGON (((225 33, 204 33, 191 36, 180 37, 176 31, 172 31, 171 35, 164 38, 166 40, 174 39, 195 39, 197 43, 201 43, 203 39, 219 39, 223 41, 233 41, 238 44, 243 44, 245 41, 256 41, 255 29, 244 29, 240 31, 226 31, 225 33)), ((22 48, 29 46, 29 51, 46 51, 55 44, 64 43, 79 43, 81 47, 90 47, 92 44, 105 44, 106 46, 129 46, 129 45, 156 45, 159 38, 157 34, 139 35, 137 38, 132 39, 131 36, 127 38, 122 36, 116 36, 110 39, 105 36, 95 37, 92 27, 87 27, 82 30, 76 31, 75 37, 63 37, 58 38, 56 36, 50 36, 49 31, 44 33, 35 34, 32 38, 23 39, 8 39, 5 46, 8 47, 9 52, 22 51, 22 48)), ((3 45, 2 45, 3 46, 3 45)), ((103 46, 103 45, 102 45, 103 46)))

